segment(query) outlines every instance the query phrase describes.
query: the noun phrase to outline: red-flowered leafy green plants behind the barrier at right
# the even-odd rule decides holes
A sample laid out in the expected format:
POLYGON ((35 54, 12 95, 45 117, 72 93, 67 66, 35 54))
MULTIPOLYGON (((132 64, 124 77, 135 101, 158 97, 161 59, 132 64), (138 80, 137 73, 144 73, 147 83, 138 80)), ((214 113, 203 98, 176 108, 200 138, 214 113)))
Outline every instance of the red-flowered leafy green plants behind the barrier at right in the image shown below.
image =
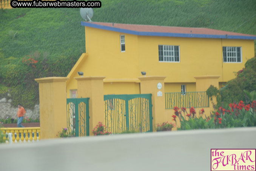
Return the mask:
POLYGON ((190 108, 190 113, 187 113, 186 108, 180 110, 175 107, 174 114, 173 120, 176 121, 177 118, 180 120, 178 130, 254 127, 256 126, 256 101, 246 105, 243 101, 238 104, 230 103, 228 108, 219 107, 209 117, 204 115, 204 109, 201 109, 199 117, 196 117, 193 107, 190 108))

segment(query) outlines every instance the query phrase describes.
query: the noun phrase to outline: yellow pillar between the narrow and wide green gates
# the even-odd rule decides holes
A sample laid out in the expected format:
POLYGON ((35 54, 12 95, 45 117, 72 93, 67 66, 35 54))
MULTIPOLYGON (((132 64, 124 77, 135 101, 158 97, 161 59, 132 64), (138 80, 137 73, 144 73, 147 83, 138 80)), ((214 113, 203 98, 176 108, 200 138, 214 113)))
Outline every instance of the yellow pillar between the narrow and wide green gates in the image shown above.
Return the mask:
POLYGON ((77 77, 77 97, 89 99, 89 131, 92 134, 93 128, 99 122, 105 123, 104 115, 104 76, 77 77))

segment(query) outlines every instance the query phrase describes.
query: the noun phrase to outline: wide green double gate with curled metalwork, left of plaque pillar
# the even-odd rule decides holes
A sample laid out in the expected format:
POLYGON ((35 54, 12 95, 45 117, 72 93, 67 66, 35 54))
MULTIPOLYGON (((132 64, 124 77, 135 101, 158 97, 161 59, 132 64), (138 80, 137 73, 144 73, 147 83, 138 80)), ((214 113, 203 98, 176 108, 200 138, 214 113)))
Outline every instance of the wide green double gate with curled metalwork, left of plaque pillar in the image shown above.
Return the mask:
POLYGON ((152 132, 151 94, 104 95, 106 130, 152 132))

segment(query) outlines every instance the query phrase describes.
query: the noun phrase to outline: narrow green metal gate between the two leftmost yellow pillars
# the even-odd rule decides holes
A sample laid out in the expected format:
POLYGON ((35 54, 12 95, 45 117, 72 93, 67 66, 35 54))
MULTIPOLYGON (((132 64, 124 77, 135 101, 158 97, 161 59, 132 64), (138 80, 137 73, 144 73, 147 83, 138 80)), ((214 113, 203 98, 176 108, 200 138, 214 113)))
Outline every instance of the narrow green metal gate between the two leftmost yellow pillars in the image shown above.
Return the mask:
POLYGON ((69 135, 89 136, 89 98, 67 99, 67 128, 69 135))

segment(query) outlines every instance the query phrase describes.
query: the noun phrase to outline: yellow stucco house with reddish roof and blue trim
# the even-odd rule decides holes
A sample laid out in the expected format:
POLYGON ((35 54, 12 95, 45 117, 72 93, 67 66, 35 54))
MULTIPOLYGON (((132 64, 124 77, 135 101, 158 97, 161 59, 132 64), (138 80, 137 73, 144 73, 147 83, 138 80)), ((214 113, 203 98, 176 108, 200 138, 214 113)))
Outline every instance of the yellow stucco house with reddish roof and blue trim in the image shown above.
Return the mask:
POLYGON ((255 35, 190 27, 81 25, 86 53, 67 76, 67 98, 77 97, 77 72, 105 76, 104 95, 139 94, 142 71, 166 76, 165 92, 197 91, 196 78, 202 76, 216 76, 221 88, 254 56, 255 35))

